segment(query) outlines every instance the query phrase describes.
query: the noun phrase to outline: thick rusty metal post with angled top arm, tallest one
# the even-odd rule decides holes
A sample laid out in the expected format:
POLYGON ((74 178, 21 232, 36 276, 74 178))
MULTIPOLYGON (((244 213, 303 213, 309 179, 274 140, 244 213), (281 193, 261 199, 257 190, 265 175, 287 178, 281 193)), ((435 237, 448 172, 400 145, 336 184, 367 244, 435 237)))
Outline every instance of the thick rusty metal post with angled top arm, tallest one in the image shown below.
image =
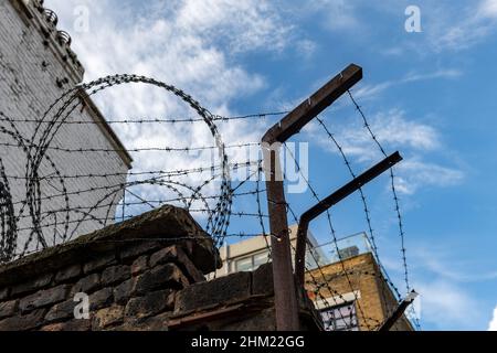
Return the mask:
POLYGON ((279 147, 298 133, 318 114, 330 106, 362 78, 362 68, 351 64, 335 76, 311 97, 272 127, 263 137, 264 169, 266 175, 269 228, 272 236, 273 278, 278 331, 299 330, 297 290, 292 268, 288 220, 279 147))

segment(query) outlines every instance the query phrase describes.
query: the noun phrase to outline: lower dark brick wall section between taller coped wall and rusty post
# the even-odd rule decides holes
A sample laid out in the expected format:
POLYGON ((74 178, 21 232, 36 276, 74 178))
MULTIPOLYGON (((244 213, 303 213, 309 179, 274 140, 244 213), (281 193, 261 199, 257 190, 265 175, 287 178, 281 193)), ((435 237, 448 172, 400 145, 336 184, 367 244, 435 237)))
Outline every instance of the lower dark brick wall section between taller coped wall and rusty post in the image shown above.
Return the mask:
MULTIPOLYGON (((179 291, 170 330, 275 331, 273 267, 236 272, 179 291)), ((307 299, 300 298, 300 330, 317 331, 320 317, 307 299)))

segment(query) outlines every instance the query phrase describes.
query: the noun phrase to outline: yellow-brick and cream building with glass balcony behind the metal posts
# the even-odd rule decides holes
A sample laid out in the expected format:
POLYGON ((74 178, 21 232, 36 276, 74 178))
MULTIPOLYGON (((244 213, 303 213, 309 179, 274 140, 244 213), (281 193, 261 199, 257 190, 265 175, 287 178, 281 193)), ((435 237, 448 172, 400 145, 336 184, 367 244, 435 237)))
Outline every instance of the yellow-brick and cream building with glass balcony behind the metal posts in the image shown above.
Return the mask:
MULTIPOLYGON (((297 226, 290 227, 295 249, 297 226)), ((209 275, 222 277, 256 270, 271 261, 268 237, 254 237, 220 249, 223 267, 209 275)), ((292 253, 294 256, 294 252, 292 253)), ((308 233, 305 290, 328 331, 374 331, 395 311, 398 300, 385 280, 364 233, 318 245, 308 233)), ((403 315, 392 328, 412 331, 403 315)))

